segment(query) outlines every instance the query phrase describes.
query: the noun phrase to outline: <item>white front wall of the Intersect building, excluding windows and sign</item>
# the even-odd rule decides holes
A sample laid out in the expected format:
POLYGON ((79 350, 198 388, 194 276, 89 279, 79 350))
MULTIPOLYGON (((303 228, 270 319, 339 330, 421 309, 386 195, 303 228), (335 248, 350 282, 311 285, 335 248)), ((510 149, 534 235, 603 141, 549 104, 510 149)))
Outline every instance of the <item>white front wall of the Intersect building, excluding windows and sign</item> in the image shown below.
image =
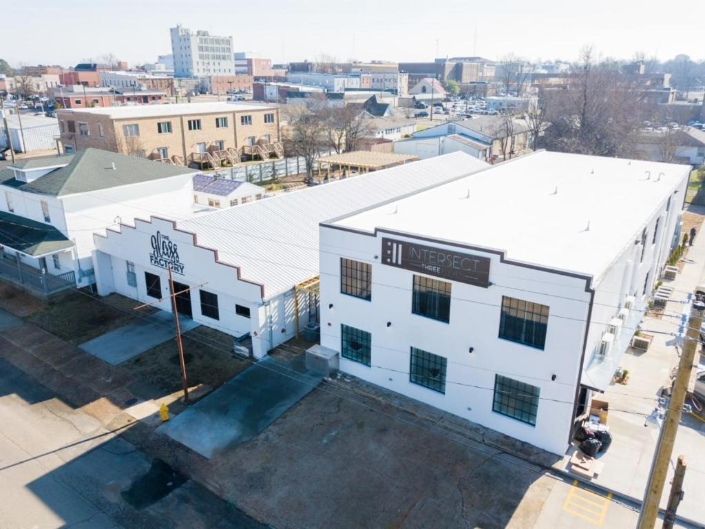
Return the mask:
POLYGON ((341 370, 562 454, 572 425, 587 327, 590 293, 585 291, 585 279, 502 263, 494 253, 431 243, 491 259, 494 285, 489 288, 450 281, 446 324, 412 314, 414 274, 379 262, 381 237, 321 226, 321 345, 341 351, 341 324, 372 333, 372 367, 341 358, 341 370), (341 257, 372 265, 371 301, 341 294, 341 257), (498 338, 502 296, 548 305, 543 350, 498 338), (411 346, 448 359, 445 394, 409 381, 411 346), (541 388, 535 426, 492 411, 496 374, 541 388))

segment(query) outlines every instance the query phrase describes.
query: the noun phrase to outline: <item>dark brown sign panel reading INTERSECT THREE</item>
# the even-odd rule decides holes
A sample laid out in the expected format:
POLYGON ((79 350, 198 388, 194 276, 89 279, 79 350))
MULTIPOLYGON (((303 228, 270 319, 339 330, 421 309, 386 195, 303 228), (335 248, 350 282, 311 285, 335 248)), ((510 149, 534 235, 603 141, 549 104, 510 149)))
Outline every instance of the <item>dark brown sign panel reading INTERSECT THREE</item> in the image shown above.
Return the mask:
POLYGON ((382 239, 382 263, 469 285, 489 286, 489 258, 480 255, 385 237, 382 239))

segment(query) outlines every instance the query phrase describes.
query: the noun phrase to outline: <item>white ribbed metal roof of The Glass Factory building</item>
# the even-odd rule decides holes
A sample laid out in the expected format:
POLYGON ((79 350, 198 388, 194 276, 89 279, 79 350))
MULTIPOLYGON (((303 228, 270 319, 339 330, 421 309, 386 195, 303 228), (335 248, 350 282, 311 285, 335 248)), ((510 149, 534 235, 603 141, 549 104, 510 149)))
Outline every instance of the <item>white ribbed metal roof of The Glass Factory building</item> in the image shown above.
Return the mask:
POLYGON ((488 164, 464 152, 283 193, 178 223, 264 285, 266 298, 319 274, 319 223, 447 182, 488 164))

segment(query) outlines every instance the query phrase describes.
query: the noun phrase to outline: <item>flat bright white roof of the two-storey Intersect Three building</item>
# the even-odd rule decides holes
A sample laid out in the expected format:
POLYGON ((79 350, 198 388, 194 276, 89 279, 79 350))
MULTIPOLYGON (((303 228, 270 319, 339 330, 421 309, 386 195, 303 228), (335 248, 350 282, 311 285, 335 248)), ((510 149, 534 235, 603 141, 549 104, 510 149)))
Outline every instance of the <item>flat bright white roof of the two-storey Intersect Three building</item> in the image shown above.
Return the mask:
MULTIPOLYGON (((503 250, 510 260, 597 280, 689 171, 685 165, 541 151, 393 205, 331 217, 329 224, 503 250), (651 171, 649 180, 645 171, 651 171)), ((680 208, 683 197, 673 200, 672 207, 680 208)))

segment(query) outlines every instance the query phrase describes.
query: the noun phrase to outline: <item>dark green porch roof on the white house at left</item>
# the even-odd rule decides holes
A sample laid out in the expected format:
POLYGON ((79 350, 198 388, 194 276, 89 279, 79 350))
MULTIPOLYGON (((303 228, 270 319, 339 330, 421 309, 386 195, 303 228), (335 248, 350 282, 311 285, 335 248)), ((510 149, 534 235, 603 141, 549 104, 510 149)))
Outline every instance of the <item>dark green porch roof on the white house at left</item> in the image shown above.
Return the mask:
POLYGON ((0 212, 0 245, 30 257, 43 257, 73 248, 74 244, 54 226, 0 212))

